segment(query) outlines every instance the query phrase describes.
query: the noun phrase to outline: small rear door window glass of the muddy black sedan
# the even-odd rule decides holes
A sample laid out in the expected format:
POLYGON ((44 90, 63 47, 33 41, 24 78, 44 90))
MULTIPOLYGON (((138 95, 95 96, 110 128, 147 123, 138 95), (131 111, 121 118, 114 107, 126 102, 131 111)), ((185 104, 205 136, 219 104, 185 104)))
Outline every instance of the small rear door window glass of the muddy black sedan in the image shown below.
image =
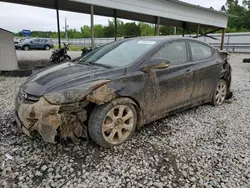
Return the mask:
POLYGON ((207 59, 213 55, 212 49, 210 47, 196 42, 189 43, 191 47, 193 61, 207 59))

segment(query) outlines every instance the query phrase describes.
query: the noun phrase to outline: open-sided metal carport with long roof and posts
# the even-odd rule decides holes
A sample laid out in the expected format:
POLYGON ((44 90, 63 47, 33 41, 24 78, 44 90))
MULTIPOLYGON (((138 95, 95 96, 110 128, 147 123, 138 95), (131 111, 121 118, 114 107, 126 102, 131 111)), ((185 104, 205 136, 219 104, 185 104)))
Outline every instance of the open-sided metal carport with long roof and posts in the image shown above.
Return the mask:
MULTIPOLYGON (((57 11, 58 39, 60 45, 59 10, 91 14, 91 39, 94 46, 94 19, 93 16, 114 17, 143 21, 156 25, 156 35, 159 35, 159 26, 171 25, 197 32, 202 28, 211 32, 222 30, 221 49, 224 44, 225 28, 228 16, 224 12, 184 3, 178 0, 0 0, 3 2, 31 5, 57 11)), ((80 21, 80 20, 79 20, 80 21)), ((115 38, 117 27, 115 24, 115 38)), ((208 32, 209 33, 209 32, 208 32)))

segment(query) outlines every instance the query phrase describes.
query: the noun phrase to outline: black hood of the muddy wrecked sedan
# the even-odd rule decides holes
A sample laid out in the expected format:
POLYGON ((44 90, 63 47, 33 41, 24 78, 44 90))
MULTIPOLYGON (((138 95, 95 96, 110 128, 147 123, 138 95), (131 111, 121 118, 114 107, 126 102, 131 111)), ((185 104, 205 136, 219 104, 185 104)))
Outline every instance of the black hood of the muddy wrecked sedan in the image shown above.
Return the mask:
POLYGON ((125 68, 107 69, 94 65, 63 63, 31 75, 21 88, 30 95, 42 96, 96 80, 112 80, 113 77, 124 74, 125 68))

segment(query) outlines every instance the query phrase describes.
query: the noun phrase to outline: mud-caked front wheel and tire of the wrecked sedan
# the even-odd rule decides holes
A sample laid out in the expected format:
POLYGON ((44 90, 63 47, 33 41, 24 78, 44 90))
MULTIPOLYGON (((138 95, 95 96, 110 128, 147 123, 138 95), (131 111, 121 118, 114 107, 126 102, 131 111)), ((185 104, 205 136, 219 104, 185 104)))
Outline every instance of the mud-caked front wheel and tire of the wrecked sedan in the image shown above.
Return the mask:
POLYGON ((132 104, 112 102, 96 106, 89 118, 89 135, 98 145, 110 148, 130 139, 137 124, 132 104))

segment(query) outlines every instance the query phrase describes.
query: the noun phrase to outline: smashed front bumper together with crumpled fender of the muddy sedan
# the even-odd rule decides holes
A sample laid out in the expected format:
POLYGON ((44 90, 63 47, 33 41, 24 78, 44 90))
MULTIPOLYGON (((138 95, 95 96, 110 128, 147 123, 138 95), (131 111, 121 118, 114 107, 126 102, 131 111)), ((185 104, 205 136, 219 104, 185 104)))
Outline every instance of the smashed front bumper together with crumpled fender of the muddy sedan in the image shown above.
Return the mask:
POLYGON ((57 136, 86 138, 88 105, 102 105, 116 96, 109 82, 97 80, 88 83, 84 89, 71 89, 40 98, 20 90, 15 102, 17 123, 25 134, 32 136, 31 133, 37 131, 44 141, 50 143, 55 143, 57 136))

